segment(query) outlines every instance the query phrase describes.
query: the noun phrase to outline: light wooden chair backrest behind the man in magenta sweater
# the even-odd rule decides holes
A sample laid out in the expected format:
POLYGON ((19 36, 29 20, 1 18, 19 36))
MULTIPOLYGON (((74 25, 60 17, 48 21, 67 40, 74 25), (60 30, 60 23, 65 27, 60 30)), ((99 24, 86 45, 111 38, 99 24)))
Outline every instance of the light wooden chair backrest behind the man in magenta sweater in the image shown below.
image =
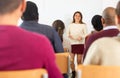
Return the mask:
POLYGON ((48 78, 45 69, 0 71, 0 78, 48 78))

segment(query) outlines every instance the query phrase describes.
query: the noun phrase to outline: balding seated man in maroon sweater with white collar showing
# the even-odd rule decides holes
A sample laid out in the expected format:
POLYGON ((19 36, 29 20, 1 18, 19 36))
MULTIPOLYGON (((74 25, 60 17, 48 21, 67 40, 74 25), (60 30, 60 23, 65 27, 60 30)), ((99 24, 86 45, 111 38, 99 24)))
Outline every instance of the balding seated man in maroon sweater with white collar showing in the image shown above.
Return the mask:
POLYGON ((84 55, 83 55, 83 60, 86 57, 87 50, 89 49, 90 45, 97 39, 102 38, 102 37, 114 37, 117 36, 119 33, 119 30, 116 25, 116 12, 115 8, 113 7, 107 7, 104 9, 103 14, 102 14, 102 23, 103 23, 103 30, 94 33, 89 36, 85 43, 85 49, 84 49, 84 55))

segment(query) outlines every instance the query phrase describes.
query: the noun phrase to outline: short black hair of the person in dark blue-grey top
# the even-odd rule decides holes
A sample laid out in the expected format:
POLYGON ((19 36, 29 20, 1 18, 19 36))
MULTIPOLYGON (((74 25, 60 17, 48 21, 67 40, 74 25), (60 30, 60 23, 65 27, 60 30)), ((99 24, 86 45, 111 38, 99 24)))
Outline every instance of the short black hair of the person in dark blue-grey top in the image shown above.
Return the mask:
POLYGON ((22 20, 24 21, 38 21, 39 13, 38 7, 34 2, 27 1, 26 10, 22 15, 22 20))

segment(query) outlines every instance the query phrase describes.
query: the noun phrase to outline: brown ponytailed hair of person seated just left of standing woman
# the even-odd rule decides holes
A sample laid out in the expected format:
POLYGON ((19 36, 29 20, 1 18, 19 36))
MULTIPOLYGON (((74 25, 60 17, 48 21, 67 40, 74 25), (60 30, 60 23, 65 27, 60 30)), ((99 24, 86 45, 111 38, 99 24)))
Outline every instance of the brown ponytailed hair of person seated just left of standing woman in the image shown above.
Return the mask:
POLYGON ((63 33, 64 33, 64 29, 65 29, 65 25, 64 25, 63 21, 61 21, 61 20, 55 20, 53 22, 52 26, 58 32, 61 41, 63 41, 63 33))

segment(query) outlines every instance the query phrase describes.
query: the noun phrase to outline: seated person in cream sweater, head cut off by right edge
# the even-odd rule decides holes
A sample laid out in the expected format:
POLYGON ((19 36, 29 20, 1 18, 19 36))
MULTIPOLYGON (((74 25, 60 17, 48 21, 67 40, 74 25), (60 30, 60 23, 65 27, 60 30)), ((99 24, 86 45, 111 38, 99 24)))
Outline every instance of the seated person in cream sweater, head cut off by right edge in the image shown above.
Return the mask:
MULTIPOLYGON (((116 8, 117 23, 120 26, 120 1, 116 8)), ((120 66, 120 33, 117 37, 101 38, 93 42, 88 49, 83 65, 120 66)))

